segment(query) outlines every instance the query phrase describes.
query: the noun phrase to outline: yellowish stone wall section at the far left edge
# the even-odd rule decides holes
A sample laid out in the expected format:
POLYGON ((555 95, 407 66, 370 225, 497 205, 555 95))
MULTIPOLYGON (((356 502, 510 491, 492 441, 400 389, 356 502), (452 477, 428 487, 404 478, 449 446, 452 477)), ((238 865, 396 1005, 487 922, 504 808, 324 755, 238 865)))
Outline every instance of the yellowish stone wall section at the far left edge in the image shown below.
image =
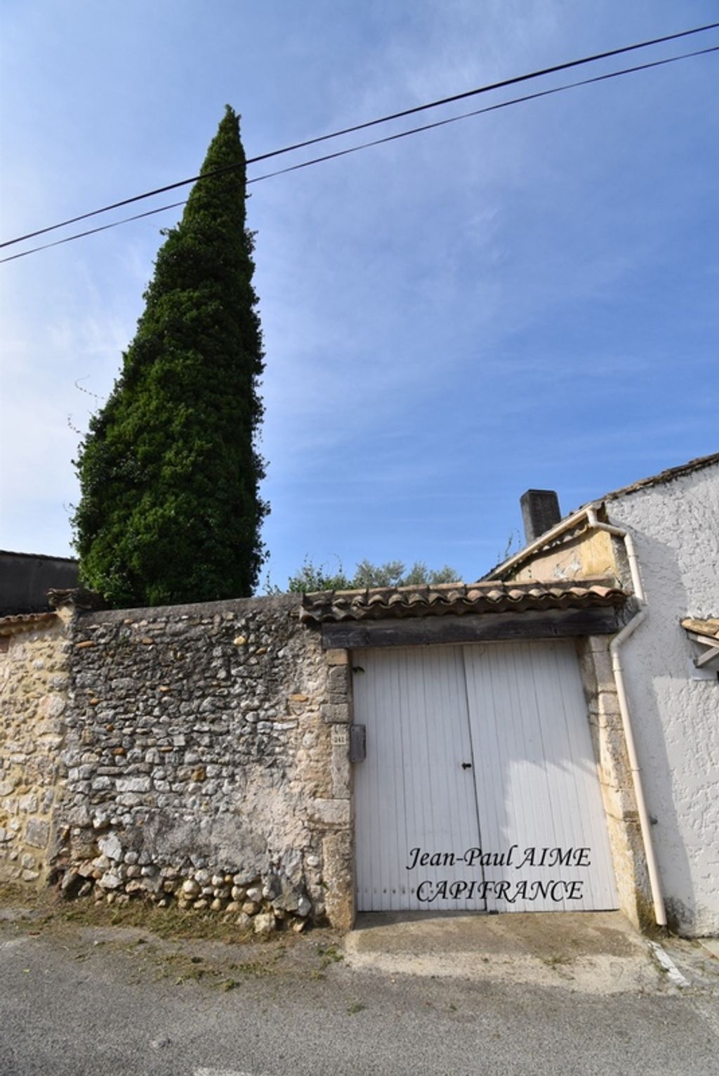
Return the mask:
POLYGON ((68 685, 61 617, 14 618, 0 636, 0 881, 42 884, 68 685))

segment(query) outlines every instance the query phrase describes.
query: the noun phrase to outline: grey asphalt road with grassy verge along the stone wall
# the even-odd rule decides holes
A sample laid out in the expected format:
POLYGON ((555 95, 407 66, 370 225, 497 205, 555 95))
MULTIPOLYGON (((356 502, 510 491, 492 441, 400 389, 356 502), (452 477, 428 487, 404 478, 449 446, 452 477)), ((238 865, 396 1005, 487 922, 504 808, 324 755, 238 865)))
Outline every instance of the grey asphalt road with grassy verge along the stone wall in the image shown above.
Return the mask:
POLYGON ((561 980, 391 976, 300 940, 258 957, 0 924, 0 1074, 719 1074, 714 989, 596 995, 561 980))

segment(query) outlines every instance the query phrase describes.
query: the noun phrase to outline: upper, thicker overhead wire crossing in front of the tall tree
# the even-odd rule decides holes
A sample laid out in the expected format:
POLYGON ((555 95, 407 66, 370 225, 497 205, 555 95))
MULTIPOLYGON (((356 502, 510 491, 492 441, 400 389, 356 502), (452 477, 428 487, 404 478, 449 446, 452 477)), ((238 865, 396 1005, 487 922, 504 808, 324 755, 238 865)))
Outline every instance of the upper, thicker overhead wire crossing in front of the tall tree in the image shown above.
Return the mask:
MULTIPOLYGON (((494 89, 503 89, 507 86, 515 86, 518 83, 527 82, 531 79, 541 79, 547 74, 555 74, 558 71, 566 71, 570 68, 580 67, 585 63, 594 63, 598 60, 608 59, 612 56, 620 56, 623 53, 635 52, 638 48, 649 48, 651 45, 663 44, 667 41, 676 41, 679 38, 688 38, 694 33, 705 33, 707 30, 716 30, 717 28, 719 28, 719 23, 708 23, 706 26, 698 26, 691 30, 681 30, 678 33, 668 33, 663 38, 652 38, 650 41, 641 41, 633 45, 623 45, 621 48, 612 48, 605 53, 595 53, 592 56, 584 56, 581 59, 567 60, 564 63, 556 63, 552 67, 531 71, 527 74, 514 75, 512 79, 503 79, 500 82, 478 86, 475 89, 468 89, 462 94, 454 94, 451 97, 443 97, 435 101, 429 101, 426 104, 417 104, 411 109, 392 112, 389 115, 380 116, 377 119, 368 119, 364 123, 355 124, 351 127, 344 127, 342 130, 332 131, 329 134, 319 134, 316 138, 307 139, 304 142, 296 142, 293 145, 284 146, 282 150, 272 150, 269 153, 260 154, 257 157, 248 157, 244 162, 239 161, 236 165, 226 165, 222 168, 213 169, 212 171, 205 172, 204 175, 192 175, 186 180, 178 180, 176 183, 168 183, 162 187, 156 187, 154 190, 146 190, 141 195, 133 195, 131 198, 123 198, 120 201, 112 202, 110 206, 103 206, 100 209, 90 210, 88 213, 81 213, 77 216, 68 217, 67 221, 60 221, 58 224, 48 225, 46 228, 38 228, 35 231, 28 231, 24 236, 17 236, 15 239, 8 239, 0 243, 0 249, 3 246, 12 246, 14 243, 20 243, 27 239, 34 239, 35 236, 43 236, 48 231, 64 228, 70 224, 77 224, 78 221, 86 221, 90 216, 98 216, 100 213, 107 213, 113 209, 120 209, 123 206, 129 206, 132 202, 141 201, 144 198, 153 198, 155 195, 164 194, 168 190, 175 190, 177 187, 187 186, 190 183, 197 183, 200 180, 210 179, 212 175, 217 175, 220 172, 242 168, 243 165, 255 165, 260 160, 269 160, 271 157, 278 157, 282 154, 292 153, 296 150, 303 150, 310 145, 317 145, 319 142, 327 142, 329 139, 340 138, 343 134, 351 134, 356 131, 365 130, 368 127, 375 127, 378 124, 386 124, 392 119, 401 119, 405 116, 415 115, 418 112, 426 112, 428 109, 437 109, 441 105, 451 104, 455 101, 462 101, 470 97, 476 97, 479 94, 488 94, 494 89)), ((676 58, 678 59, 680 57, 676 58)), ((8 258, 5 260, 10 259, 8 258)))

